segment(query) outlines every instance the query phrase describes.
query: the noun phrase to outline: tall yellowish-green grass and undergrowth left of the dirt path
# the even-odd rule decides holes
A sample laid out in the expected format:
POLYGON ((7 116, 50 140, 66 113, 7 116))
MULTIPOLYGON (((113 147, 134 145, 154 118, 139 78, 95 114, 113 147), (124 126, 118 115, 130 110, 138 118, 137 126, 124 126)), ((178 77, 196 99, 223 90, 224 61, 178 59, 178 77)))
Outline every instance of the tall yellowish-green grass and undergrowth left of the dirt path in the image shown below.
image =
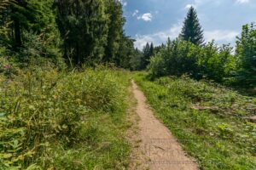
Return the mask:
POLYGON ((128 85, 105 69, 1 73, 0 169, 124 169, 128 85))

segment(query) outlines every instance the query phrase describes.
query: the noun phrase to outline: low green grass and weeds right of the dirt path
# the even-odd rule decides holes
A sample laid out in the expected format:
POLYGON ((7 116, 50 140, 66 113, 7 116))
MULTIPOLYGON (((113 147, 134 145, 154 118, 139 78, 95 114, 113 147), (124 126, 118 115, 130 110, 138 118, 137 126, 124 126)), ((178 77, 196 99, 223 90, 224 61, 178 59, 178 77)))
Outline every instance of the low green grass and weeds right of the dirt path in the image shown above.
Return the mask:
POLYGON ((210 82, 163 77, 154 82, 137 73, 135 81, 157 117, 179 139, 201 169, 256 169, 256 99, 210 82), (210 109, 197 110, 199 106, 210 109))

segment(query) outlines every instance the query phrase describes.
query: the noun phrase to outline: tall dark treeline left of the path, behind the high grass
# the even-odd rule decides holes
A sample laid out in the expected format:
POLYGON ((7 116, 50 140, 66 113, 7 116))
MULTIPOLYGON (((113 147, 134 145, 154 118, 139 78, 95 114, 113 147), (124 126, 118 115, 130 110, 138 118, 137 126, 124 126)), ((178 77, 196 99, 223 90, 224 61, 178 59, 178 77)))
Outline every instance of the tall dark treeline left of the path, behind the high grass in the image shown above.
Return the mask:
POLYGON ((1 0, 0 8, 1 56, 131 68, 136 50, 118 0, 1 0))

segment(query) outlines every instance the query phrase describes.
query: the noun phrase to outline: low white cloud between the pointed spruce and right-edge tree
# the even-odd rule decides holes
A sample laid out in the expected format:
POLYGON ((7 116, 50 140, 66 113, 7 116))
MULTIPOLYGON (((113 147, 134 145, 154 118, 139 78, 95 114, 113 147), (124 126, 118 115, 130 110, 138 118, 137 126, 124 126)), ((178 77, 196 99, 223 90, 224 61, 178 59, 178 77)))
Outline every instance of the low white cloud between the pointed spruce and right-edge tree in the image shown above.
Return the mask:
POLYGON ((207 42, 216 40, 216 42, 234 42, 236 37, 239 35, 237 31, 228 31, 228 30, 214 30, 214 31, 205 31, 205 38, 207 42))

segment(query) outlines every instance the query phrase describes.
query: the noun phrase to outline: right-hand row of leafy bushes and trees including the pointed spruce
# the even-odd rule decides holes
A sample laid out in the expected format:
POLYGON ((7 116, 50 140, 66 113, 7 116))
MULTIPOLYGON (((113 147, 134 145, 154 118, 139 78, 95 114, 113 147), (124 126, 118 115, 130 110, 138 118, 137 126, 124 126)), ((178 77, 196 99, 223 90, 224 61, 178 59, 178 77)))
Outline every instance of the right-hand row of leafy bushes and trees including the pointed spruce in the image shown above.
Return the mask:
POLYGON ((219 47, 213 40, 205 42, 195 8, 191 7, 183 22, 179 37, 162 45, 150 58, 151 76, 189 75, 215 82, 255 88, 256 86, 256 27, 242 27, 236 50, 228 45, 219 47), (235 54, 234 54, 235 52, 235 54))

